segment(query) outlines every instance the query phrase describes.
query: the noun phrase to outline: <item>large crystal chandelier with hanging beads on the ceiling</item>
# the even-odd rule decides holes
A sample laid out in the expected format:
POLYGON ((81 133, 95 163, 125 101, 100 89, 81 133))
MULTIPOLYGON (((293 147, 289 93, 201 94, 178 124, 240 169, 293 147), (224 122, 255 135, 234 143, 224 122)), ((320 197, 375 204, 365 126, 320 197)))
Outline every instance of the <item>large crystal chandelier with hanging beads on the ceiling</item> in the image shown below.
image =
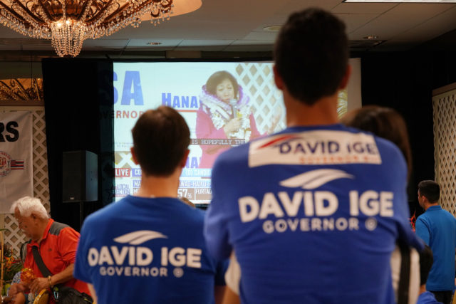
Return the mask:
POLYGON ((88 38, 109 36, 141 21, 154 25, 199 9, 201 0, 0 0, 0 24, 51 39, 58 56, 77 56, 88 38))

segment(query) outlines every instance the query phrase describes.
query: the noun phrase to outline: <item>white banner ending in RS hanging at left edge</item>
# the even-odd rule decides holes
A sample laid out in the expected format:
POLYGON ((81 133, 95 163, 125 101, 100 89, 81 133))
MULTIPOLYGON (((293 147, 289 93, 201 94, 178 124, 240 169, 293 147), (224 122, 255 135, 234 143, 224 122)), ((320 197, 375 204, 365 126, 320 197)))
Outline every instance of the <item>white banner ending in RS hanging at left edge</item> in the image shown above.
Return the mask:
POLYGON ((0 112, 0 214, 33 196, 32 120, 31 112, 0 112))

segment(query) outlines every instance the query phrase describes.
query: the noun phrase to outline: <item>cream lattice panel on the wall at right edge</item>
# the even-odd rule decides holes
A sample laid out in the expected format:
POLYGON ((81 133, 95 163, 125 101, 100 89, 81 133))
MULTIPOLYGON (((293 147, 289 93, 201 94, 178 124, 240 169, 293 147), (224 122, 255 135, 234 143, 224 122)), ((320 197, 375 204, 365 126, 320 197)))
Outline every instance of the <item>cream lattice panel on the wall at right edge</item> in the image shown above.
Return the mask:
POLYGON ((456 90, 432 98, 435 181, 440 205, 456 215, 456 90))

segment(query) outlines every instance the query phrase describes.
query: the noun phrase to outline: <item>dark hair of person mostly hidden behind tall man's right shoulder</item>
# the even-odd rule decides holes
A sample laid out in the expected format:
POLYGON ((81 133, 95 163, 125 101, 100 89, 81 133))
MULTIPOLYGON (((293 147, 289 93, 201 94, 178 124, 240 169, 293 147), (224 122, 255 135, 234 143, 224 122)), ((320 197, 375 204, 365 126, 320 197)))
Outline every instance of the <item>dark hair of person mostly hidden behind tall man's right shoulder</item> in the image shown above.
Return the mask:
POLYGON ((378 137, 390 140, 403 153, 408 167, 408 177, 412 169, 412 152, 408 140, 407 125, 402 115, 392 108, 366 105, 348 112, 341 118, 344 125, 372 132, 378 137))

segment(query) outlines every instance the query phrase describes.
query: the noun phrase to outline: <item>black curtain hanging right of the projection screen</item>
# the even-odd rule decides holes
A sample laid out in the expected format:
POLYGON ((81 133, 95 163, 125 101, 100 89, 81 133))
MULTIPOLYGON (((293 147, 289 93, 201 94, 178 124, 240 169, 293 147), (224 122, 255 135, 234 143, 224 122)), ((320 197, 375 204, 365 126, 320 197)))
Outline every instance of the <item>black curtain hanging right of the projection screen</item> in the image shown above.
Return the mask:
POLYGON ((408 196, 410 213, 416 211, 417 216, 423 212, 418 182, 435 178, 432 90, 456 82, 455 55, 454 51, 361 55, 363 105, 394 108, 407 123, 413 157, 408 196))

